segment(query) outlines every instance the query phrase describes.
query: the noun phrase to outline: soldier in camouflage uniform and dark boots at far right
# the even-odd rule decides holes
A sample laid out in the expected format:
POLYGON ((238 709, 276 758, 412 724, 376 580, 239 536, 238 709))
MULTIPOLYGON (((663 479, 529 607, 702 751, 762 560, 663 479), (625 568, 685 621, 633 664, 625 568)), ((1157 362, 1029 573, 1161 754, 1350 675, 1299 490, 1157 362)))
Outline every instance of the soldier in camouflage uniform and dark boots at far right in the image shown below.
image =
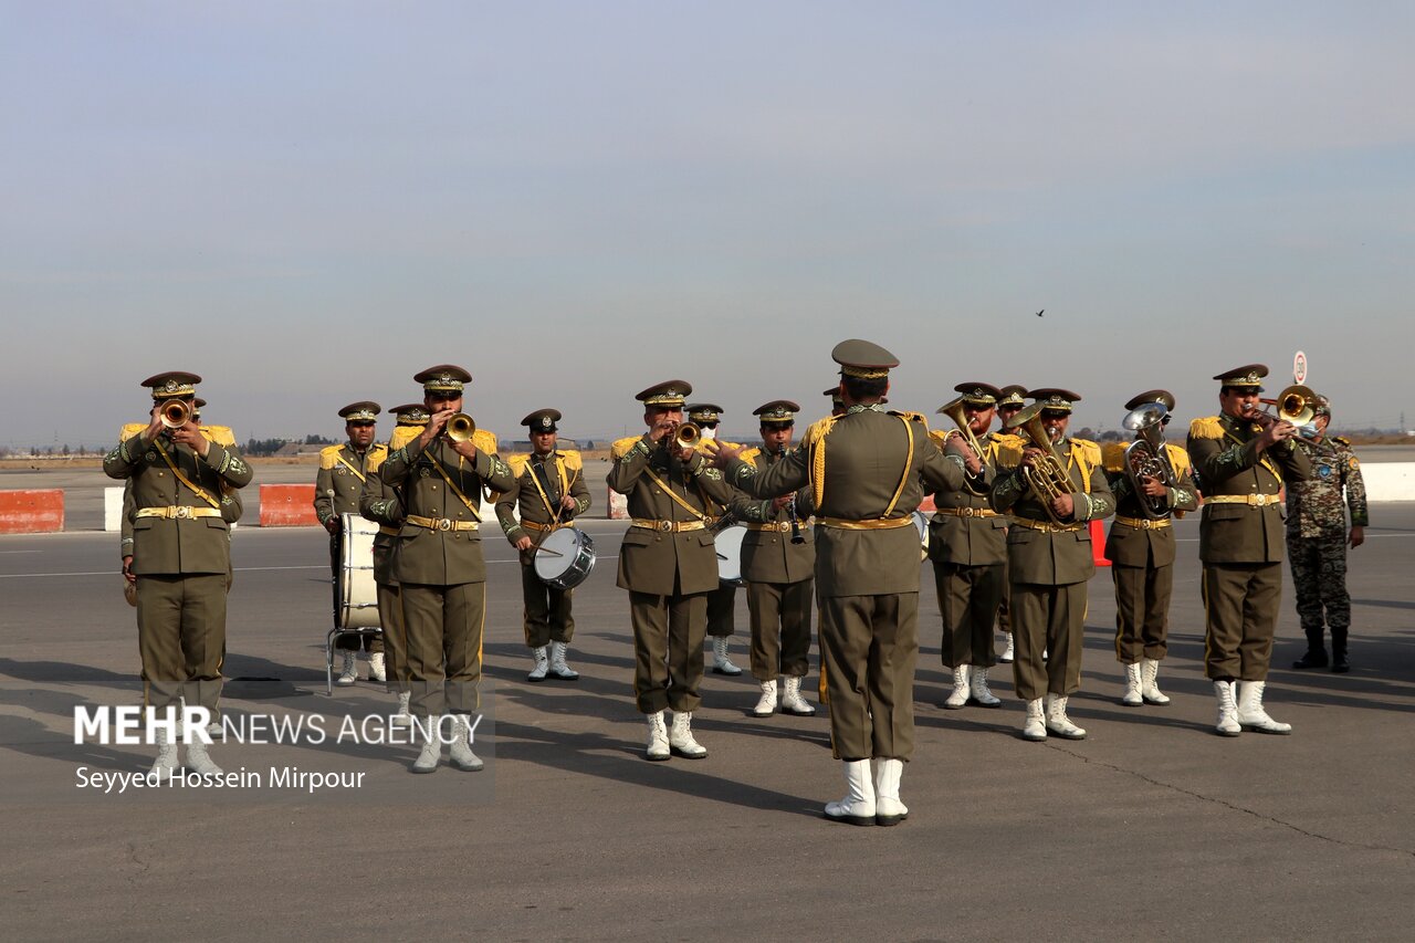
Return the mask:
POLYGON ((1292 583, 1298 589, 1298 616, 1307 636, 1307 651, 1292 663, 1293 668, 1324 668, 1327 651, 1322 627, 1332 630, 1332 670, 1351 670, 1346 657, 1346 634, 1351 626, 1351 598, 1346 592, 1346 547, 1360 547, 1370 524, 1365 511, 1365 484, 1361 463, 1351 443, 1326 435, 1332 406, 1319 399, 1312 438, 1296 439, 1298 447, 1312 460, 1312 479, 1293 481, 1288 488, 1288 559, 1292 583), (1344 500, 1343 500, 1344 491, 1344 500), (1351 530, 1346 511, 1351 510, 1351 530))

